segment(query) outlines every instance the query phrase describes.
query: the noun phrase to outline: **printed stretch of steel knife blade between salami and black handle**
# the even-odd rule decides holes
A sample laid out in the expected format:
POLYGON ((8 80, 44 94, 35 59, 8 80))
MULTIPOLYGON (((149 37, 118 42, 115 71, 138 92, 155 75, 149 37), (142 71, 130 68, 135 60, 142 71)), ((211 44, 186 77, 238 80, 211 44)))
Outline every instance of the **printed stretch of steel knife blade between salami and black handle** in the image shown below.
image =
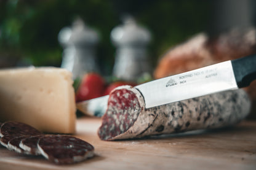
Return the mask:
POLYGON ((231 61, 154 80, 136 87, 146 108, 238 88, 231 61))

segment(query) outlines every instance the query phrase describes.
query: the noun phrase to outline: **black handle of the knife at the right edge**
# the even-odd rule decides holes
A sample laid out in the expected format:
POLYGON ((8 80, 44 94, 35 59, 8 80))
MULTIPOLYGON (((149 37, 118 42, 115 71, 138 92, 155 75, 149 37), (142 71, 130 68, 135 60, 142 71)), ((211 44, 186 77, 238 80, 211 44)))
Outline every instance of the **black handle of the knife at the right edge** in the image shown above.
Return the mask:
POLYGON ((231 60, 239 88, 247 87, 256 79, 256 54, 231 60))

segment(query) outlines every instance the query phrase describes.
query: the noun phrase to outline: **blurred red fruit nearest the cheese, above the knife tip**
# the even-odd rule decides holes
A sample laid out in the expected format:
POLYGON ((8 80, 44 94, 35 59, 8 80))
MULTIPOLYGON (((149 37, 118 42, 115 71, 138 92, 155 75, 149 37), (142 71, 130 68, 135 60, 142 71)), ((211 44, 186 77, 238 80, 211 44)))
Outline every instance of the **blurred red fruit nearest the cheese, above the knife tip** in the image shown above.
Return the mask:
POLYGON ((76 91, 76 102, 98 98, 103 95, 105 80, 97 73, 88 73, 82 78, 76 91))

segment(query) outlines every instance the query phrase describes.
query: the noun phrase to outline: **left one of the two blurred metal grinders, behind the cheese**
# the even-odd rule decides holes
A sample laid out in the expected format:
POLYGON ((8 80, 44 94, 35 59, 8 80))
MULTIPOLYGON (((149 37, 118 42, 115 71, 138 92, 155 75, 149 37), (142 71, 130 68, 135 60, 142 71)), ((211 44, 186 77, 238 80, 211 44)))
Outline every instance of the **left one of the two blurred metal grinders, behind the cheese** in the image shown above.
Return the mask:
POLYGON ((73 73, 73 79, 87 72, 98 71, 95 56, 95 46, 98 34, 90 29, 80 18, 71 27, 65 27, 58 34, 58 41, 63 46, 61 68, 73 73))

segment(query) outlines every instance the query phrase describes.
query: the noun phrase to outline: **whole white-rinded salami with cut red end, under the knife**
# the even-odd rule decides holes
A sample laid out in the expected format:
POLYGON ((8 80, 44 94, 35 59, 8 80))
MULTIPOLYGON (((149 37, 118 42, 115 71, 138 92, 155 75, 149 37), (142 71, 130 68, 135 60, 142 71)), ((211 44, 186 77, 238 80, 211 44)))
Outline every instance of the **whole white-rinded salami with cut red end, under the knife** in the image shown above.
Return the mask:
POLYGON ((249 114, 249 110, 249 98, 241 89, 145 109, 140 91, 122 86, 110 93, 98 136, 112 141, 220 128, 238 123, 249 114))

